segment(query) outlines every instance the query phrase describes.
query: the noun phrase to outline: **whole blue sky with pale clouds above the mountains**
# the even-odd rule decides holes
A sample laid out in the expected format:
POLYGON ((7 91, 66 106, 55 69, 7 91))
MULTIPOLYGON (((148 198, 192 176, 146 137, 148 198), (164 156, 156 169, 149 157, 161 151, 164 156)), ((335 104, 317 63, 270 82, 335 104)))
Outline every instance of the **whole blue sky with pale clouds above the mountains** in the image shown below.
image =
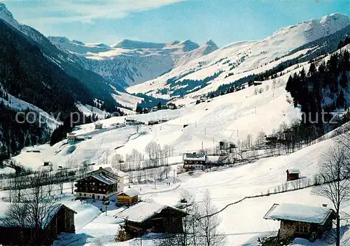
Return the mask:
MULTIPOLYGON (((3 1, 3 0, 0 0, 3 1)), ((167 43, 190 39, 219 46, 262 39, 281 27, 331 13, 347 0, 5 0, 14 17, 45 36, 106 45, 120 39, 167 43)))

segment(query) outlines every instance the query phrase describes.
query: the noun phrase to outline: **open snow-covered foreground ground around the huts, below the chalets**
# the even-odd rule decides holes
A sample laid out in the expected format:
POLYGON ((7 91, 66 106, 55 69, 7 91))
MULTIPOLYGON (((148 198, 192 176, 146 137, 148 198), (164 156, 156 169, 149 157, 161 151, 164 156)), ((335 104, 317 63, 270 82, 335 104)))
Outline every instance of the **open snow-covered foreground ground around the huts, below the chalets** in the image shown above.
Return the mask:
MULTIPOLYGON (((244 196, 265 194, 267 191, 273 192, 274 187, 286 181, 287 168, 300 168, 302 177, 312 178, 314 173, 318 171, 320 155, 333 144, 333 140, 328 139, 286 156, 260 159, 255 163, 233 166, 209 173, 198 173, 194 176, 184 173, 176 178, 176 184, 172 184, 171 187, 165 184, 157 184, 156 189, 153 184, 138 184, 132 185, 132 187, 141 190, 141 199, 164 205, 179 203, 179 197, 184 190, 194 194, 197 201, 202 201, 202 194, 208 189, 214 205, 221 209, 228 203, 238 201, 244 196)), ((103 245, 129 245, 129 242, 113 243, 113 238, 118 232, 118 223, 121 222, 113 215, 116 215, 123 208, 113 208, 110 205, 107 216, 105 216, 99 211, 99 208, 103 208, 99 202, 80 203, 80 201, 73 201, 73 196, 68 195, 69 187, 64 190, 66 196, 62 198, 62 202, 78 212, 75 219, 76 237, 82 239, 76 242, 76 245, 84 245, 85 243, 93 245, 97 242, 103 245)), ((1 193, 1 195, 4 194, 1 193)), ((241 203, 229 206, 220 213, 220 217, 223 219, 220 231, 227 235, 228 245, 258 245, 259 237, 275 235, 279 229, 279 222, 263 219, 265 213, 274 203, 298 203, 313 206, 328 203, 331 207, 330 201, 312 194, 312 188, 246 199, 241 203)), ((349 205, 344 206, 344 212, 350 212, 349 205)), ((349 238, 350 233, 346 232, 343 242, 349 238)), ((152 240, 145 240, 144 243, 145 245, 153 245, 152 240)), ((295 240, 292 245, 327 244, 320 241, 311 244, 306 240, 295 240)))

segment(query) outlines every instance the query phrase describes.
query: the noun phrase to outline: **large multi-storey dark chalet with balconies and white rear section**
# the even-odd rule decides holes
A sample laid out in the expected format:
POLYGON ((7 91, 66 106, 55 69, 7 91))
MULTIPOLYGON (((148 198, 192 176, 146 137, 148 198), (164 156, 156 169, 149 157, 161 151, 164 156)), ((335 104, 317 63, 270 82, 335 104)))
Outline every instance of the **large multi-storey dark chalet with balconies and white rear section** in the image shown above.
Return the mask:
POLYGON ((99 168, 87 173, 84 178, 76 180, 76 199, 104 200, 124 191, 127 184, 127 173, 113 173, 111 168, 99 168))

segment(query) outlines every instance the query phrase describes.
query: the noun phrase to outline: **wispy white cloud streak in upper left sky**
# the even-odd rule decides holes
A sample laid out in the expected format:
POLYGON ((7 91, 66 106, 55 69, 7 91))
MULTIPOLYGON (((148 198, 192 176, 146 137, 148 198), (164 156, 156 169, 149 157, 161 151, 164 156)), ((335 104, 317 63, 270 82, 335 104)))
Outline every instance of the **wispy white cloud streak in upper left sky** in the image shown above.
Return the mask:
MULTIPOLYGON (((0 0, 2 1, 2 0, 0 0)), ((47 1, 42 6, 31 6, 22 22, 84 22, 92 23, 97 19, 120 19, 154 8, 160 8, 184 0, 104 0, 104 1, 47 1), (36 15, 32 15, 36 13, 36 15)))

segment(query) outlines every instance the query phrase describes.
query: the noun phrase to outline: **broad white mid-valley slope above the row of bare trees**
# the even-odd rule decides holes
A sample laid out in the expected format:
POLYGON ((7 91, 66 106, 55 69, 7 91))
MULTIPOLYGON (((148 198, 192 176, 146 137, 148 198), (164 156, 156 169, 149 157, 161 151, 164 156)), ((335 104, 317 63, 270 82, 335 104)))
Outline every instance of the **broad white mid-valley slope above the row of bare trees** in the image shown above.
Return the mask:
POLYGON ((66 143, 66 140, 52 147, 42 145, 39 146, 40 153, 27 152, 25 149, 14 159, 33 169, 41 168, 44 159, 51 161, 54 168, 72 164, 79 166, 84 161, 96 164, 100 161, 101 164, 110 165, 115 154, 125 155, 134 148, 144 152, 151 141, 162 146, 170 145, 174 147, 175 155, 182 156, 183 152, 195 152, 202 147, 212 149, 220 140, 237 143, 245 140, 248 134, 255 139, 260 131, 269 134, 281 124, 289 124, 300 117, 299 110, 286 101, 288 94, 282 82, 275 85, 274 90, 266 91, 267 85, 272 88, 272 80, 257 87, 218 96, 210 102, 195 105, 188 101, 184 108, 133 115, 135 119, 146 123, 161 118, 169 120, 154 126, 142 126, 139 131, 144 131, 144 134, 141 136, 133 126, 116 129, 114 124, 123 123, 125 117, 99 120, 104 125, 101 130, 95 130, 93 123, 77 126, 74 132, 85 140, 74 145, 66 143), (255 89, 259 88, 265 91, 255 95, 255 89), (184 124, 188 126, 183 128, 184 124), (70 154, 71 148, 75 150, 70 154))

